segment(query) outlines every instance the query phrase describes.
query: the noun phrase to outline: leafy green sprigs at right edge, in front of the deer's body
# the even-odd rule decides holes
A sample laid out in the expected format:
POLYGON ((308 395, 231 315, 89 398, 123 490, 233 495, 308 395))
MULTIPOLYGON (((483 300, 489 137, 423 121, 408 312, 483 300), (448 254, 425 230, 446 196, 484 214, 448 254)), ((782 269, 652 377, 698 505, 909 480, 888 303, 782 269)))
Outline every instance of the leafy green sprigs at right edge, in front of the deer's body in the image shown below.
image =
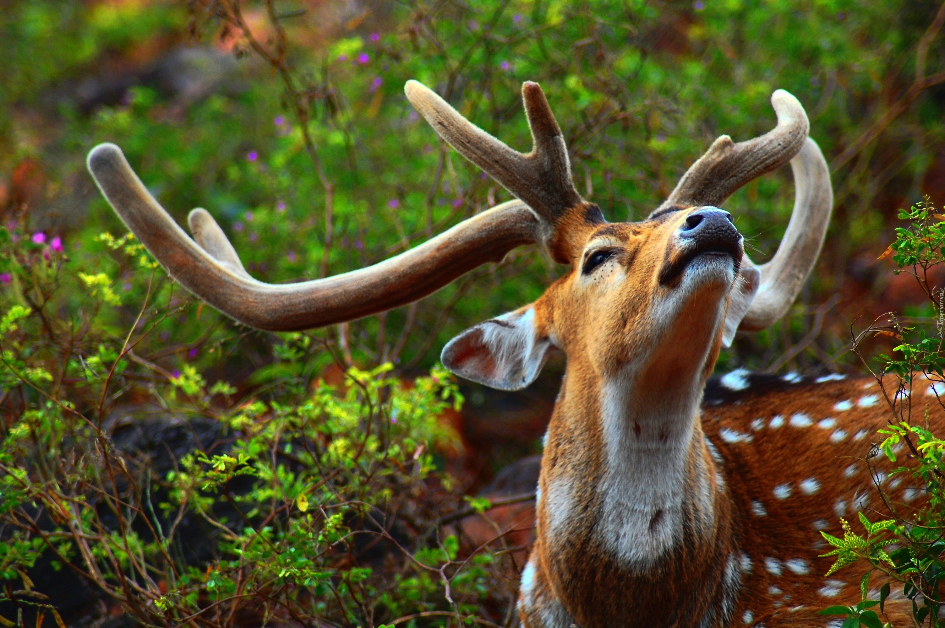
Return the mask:
MULTIPOLYGON (((937 317, 934 322, 937 333, 927 329, 928 320, 919 319, 917 323, 907 325, 902 318, 890 315, 885 323, 874 322, 866 331, 854 337, 853 350, 868 364, 861 352, 861 346, 870 334, 893 336, 901 344, 893 350, 896 358, 881 354, 876 358, 880 368, 874 372, 883 396, 888 404, 891 418, 889 424, 879 430, 883 440, 874 446, 868 454, 867 462, 883 452, 893 463, 900 461, 903 447, 908 451, 902 465, 895 467, 890 475, 909 475, 922 488, 925 502, 915 512, 903 513, 896 507, 895 501, 888 499, 880 485, 884 503, 889 507, 892 518, 871 523, 866 515, 859 513, 860 522, 866 535, 854 534, 850 525, 841 519, 844 537, 837 538, 821 533, 833 546, 833 551, 823 554, 836 556, 828 575, 848 565, 866 562, 870 571, 877 570, 893 582, 902 585, 903 594, 912 603, 913 619, 919 625, 937 627, 942 625, 938 619, 938 609, 943 600, 940 587, 945 581, 945 542, 942 531, 945 530, 943 504, 945 504, 945 485, 942 483, 943 453, 945 441, 928 430, 929 404, 925 404, 923 419, 925 425, 918 425, 912 417, 913 389, 916 382, 931 385, 935 392, 936 403, 945 410, 939 393, 945 379, 942 368, 945 365, 945 351, 942 345, 942 288, 932 282, 937 266, 945 263, 945 216, 936 213, 935 206, 926 198, 908 211, 899 212, 899 218, 908 221, 905 227, 896 229, 896 240, 883 256, 893 254, 899 273, 908 273, 919 284, 929 299, 937 317), (924 325, 923 325, 924 323, 924 325)), ((919 392, 922 395, 924 390, 919 392)), ((882 613, 890 586, 886 582, 880 589, 880 599, 867 599, 869 573, 864 576, 863 602, 855 607, 832 606, 825 609, 825 614, 848 616, 844 625, 881 625, 875 611, 867 610, 879 604, 882 613), (865 619, 872 613, 869 619, 865 619), (853 623, 858 621, 859 623, 853 623)))

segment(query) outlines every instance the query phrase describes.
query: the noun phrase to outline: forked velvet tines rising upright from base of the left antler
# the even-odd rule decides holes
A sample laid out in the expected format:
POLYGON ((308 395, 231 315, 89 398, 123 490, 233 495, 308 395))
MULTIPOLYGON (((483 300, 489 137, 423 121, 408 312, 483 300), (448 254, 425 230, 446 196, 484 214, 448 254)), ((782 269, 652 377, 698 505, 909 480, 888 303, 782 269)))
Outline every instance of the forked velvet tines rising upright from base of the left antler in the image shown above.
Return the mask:
POLYGON ((524 200, 548 226, 557 225, 567 210, 583 202, 571 180, 564 136, 538 83, 529 81, 522 86, 534 143, 528 154, 508 147, 473 125, 422 83, 409 80, 404 92, 443 140, 524 200))

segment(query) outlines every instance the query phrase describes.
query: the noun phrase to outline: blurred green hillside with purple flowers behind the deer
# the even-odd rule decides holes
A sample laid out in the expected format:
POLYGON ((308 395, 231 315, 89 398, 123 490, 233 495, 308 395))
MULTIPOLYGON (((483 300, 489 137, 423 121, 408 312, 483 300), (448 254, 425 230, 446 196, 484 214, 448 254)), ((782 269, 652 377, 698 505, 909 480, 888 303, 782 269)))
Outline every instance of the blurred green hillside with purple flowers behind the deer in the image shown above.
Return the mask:
MULTIPOLYGON (((833 223, 791 313, 738 338, 718 369, 856 371, 851 325, 934 315, 878 258, 897 210, 945 202, 943 19, 931 0, 3 0, 0 220, 66 268, 104 273, 98 289, 118 306, 98 320, 121 334, 147 276, 101 254, 98 235, 125 229, 85 170, 94 144, 119 144, 180 224, 194 207, 213 212, 249 272, 278 282, 378 262, 507 200, 409 107, 409 78, 521 150, 521 84, 539 81, 578 189, 611 221, 659 205, 718 135, 773 127, 769 97, 783 88, 831 164, 833 223)), ((785 167, 727 202, 756 263, 774 253, 793 197, 785 167)), ((316 335, 348 364, 390 361, 412 376, 563 270, 524 248, 414 306, 316 335)), ((10 273, 0 281, 19 289, 10 273)), ((77 283, 63 303, 83 285, 94 288, 77 283)), ((135 349, 148 365, 222 377, 237 397, 283 367, 275 334, 168 298, 173 313, 135 349)), ((340 373, 325 352, 306 368, 340 373)), ((540 450, 562 369, 558 356, 520 394, 463 383, 451 420, 469 490, 540 450)))

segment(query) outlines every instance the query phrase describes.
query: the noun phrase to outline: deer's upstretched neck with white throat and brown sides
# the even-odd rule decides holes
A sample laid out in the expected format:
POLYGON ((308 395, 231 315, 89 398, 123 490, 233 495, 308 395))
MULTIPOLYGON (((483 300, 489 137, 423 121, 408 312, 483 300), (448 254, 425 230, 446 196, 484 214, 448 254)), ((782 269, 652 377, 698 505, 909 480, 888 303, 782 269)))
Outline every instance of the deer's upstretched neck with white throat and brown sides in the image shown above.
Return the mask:
POLYGON ((705 625, 730 616, 744 560, 700 423, 708 353, 705 362, 685 356, 696 363, 688 373, 665 355, 610 377, 569 365, 542 461, 539 535, 576 620, 599 625, 593 616, 606 613, 607 595, 622 612, 641 604, 650 625, 675 625, 662 615, 681 607, 705 625), (604 566, 612 592, 595 575, 604 566), (627 590, 640 595, 627 599, 627 590), (668 604, 654 603, 662 598, 668 604))

